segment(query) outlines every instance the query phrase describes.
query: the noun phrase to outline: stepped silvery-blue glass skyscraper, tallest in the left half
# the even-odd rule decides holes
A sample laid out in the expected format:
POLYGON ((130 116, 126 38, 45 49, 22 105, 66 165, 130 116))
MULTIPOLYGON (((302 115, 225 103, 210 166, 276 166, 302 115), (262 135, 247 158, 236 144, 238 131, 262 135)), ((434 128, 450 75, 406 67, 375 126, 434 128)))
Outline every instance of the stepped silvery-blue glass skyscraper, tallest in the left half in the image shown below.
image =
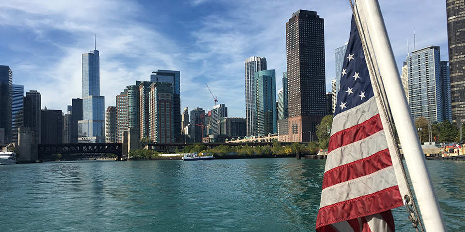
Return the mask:
POLYGON ((100 96, 98 50, 82 54, 82 120, 78 124, 82 127, 78 143, 105 143, 105 97, 100 96))

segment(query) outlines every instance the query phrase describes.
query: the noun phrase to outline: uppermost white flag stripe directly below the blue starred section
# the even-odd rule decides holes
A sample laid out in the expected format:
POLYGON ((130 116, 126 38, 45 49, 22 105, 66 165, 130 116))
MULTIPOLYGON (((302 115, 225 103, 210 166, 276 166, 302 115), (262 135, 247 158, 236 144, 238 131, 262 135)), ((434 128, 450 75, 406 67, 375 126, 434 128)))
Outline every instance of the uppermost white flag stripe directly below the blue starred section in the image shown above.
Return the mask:
POLYGON ((333 125, 331 127, 331 136, 346 128, 362 123, 377 114, 378 107, 376 105, 376 99, 372 97, 368 101, 334 116, 333 125), (354 115, 356 115, 356 117, 354 115))

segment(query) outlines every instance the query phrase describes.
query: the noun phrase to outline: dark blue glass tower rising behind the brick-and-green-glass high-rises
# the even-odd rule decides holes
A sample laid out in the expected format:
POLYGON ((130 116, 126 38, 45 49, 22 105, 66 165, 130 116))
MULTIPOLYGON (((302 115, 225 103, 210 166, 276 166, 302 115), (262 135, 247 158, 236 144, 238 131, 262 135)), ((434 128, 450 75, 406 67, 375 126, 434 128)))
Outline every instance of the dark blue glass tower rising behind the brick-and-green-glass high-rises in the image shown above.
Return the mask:
POLYGON ((181 136, 181 82, 180 72, 172 70, 157 70, 150 75, 151 82, 173 83, 173 127, 174 142, 184 141, 181 136))

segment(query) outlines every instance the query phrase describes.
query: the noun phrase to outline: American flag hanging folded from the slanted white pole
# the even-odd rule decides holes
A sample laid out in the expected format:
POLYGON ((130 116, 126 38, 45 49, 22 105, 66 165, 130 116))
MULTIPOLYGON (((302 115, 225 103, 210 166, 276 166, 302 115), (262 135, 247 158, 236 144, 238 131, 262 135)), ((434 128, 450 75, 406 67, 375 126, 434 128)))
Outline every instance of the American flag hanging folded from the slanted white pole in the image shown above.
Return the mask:
POLYGON ((393 232, 403 202, 354 18, 342 67, 316 231, 393 232))

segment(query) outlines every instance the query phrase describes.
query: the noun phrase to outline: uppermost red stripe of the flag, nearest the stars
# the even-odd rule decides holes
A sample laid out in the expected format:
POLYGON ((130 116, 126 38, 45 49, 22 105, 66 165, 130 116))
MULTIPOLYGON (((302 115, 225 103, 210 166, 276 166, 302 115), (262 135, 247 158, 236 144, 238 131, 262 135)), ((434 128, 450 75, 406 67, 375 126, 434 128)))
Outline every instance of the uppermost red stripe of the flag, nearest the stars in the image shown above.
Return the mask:
POLYGON ((370 119, 349 127, 331 135, 329 140, 328 153, 341 146, 349 145, 356 141, 367 138, 368 136, 383 130, 379 114, 372 116, 370 119))

